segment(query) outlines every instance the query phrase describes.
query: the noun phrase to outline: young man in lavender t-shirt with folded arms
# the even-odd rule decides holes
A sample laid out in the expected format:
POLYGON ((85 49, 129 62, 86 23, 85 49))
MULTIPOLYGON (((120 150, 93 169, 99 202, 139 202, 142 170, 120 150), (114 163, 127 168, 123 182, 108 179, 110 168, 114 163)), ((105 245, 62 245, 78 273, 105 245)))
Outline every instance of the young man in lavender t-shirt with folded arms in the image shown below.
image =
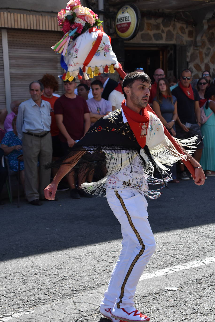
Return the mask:
POLYGON ((93 125, 98 119, 112 111, 111 102, 102 98, 103 85, 101 81, 93 81, 91 84, 92 99, 87 99, 87 105, 90 110, 90 121, 93 125))

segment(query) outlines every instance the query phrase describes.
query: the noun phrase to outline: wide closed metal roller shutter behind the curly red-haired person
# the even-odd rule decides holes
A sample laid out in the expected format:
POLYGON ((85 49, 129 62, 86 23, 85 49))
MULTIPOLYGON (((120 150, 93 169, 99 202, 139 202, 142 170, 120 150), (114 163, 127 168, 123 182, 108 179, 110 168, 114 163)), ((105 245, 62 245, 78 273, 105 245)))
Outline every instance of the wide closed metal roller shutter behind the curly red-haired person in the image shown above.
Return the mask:
MULTIPOLYGON (((61 37, 61 32, 8 29, 8 52, 11 80, 11 100, 29 99, 29 83, 41 79, 43 74, 62 75, 60 55, 52 49, 61 37)), ((59 95, 63 94, 60 79, 59 95)))

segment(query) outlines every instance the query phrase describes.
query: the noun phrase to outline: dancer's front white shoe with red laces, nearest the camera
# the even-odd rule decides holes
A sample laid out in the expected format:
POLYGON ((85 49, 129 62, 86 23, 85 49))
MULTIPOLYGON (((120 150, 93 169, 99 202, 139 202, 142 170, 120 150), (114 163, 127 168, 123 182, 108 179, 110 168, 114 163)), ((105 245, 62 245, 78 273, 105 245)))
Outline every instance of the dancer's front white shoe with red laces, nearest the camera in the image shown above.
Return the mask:
POLYGON ((113 308, 112 317, 127 321, 127 322, 139 322, 139 321, 149 321, 150 318, 147 315, 142 314, 133 306, 129 308, 113 308))

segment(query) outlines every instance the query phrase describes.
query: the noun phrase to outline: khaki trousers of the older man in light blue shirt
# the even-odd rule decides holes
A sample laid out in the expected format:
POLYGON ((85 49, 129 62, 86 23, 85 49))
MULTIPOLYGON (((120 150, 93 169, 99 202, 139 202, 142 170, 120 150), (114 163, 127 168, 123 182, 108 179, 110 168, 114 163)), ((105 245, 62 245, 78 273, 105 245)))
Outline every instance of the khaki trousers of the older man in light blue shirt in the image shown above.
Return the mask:
MULTIPOLYGON (((43 133, 35 133, 41 135, 43 133)), ((52 137, 48 133, 44 137, 33 137, 23 133, 23 158, 25 175, 25 194, 28 202, 44 199, 43 189, 50 183, 51 170, 44 165, 52 161, 52 137), (37 161, 40 165, 37 166, 37 161), (39 168, 39 186, 38 186, 39 168)))

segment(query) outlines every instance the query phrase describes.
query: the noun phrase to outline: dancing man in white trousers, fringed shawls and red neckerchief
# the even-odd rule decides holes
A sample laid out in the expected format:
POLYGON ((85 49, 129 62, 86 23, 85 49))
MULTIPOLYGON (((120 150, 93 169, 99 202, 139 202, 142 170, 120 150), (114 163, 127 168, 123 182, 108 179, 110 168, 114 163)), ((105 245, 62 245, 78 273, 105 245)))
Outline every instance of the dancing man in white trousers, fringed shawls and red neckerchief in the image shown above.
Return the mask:
POLYGON ((122 110, 106 115, 89 129, 61 160, 57 175, 44 189, 45 197, 53 200, 58 183, 75 165, 89 169, 106 163, 107 176, 83 186, 94 194, 106 190, 108 204, 122 227, 122 250, 100 305, 103 316, 114 322, 150 319, 133 302, 137 283, 155 250, 145 195, 154 199, 160 192, 150 191, 147 181, 164 184, 167 169, 161 163, 171 165, 183 157, 195 167, 195 184, 203 185, 205 180, 200 164, 184 149, 186 156, 178 153, 165 137, 161 121, 147 112, 150 89, 151 80, 145 73, 126 75, 122 110), (153 176, 154 170, 159 179, 153 176))

